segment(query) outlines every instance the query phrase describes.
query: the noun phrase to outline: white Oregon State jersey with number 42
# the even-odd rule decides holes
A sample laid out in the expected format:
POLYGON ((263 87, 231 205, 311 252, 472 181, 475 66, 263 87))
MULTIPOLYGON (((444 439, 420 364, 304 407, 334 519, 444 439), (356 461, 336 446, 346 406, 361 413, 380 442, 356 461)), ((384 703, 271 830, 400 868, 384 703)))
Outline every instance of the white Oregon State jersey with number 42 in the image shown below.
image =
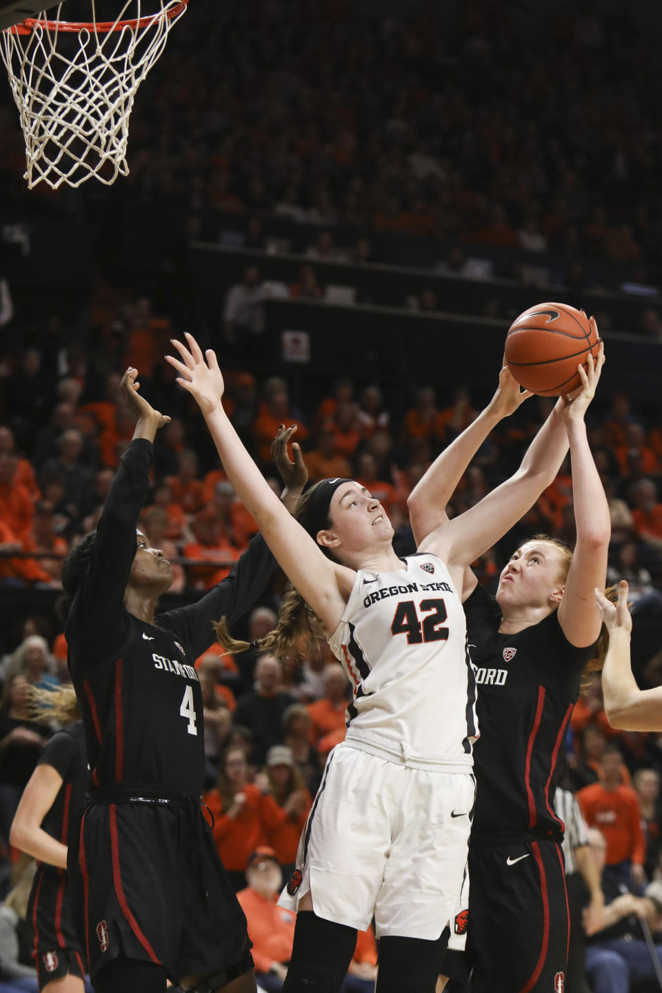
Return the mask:
POLYGON ((440 558, 359 569, 329 643, 354 687, 347 744, 408 766, 471 767, 475 682, 463 606, 440 558))

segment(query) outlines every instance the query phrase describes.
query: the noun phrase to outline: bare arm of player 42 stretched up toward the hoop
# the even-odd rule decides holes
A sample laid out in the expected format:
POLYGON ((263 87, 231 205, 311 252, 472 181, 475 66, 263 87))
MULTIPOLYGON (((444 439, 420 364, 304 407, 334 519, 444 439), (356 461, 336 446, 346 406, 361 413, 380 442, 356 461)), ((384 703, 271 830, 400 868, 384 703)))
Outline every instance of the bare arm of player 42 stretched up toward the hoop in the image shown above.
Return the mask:
POLYGON ((177 381, 195 397, 237 496, 288 578, 331 633, 344 609, 342 594, 348 595, 355 573, 334 565, 276 497, 222 408, 223 377, 216 355, 210 349, 202 355, 195 338, 189 334, 186 338, 189 348, 173 342, 180 358, 167 356, 180 373, 177 381))

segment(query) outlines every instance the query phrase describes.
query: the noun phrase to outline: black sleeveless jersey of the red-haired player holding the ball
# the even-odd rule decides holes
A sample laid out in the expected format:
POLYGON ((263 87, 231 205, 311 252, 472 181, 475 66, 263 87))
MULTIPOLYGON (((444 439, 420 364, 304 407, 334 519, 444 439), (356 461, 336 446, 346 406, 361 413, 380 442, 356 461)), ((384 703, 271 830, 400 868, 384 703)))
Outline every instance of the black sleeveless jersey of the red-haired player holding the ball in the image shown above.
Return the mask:
POLYGON ((576 648, 557 612, 516 635, 499 634, 494 600, 478 585, 464 602, 477 686, 471 839, 560 837, 554 792, 568 724, 593 646, 576 648))

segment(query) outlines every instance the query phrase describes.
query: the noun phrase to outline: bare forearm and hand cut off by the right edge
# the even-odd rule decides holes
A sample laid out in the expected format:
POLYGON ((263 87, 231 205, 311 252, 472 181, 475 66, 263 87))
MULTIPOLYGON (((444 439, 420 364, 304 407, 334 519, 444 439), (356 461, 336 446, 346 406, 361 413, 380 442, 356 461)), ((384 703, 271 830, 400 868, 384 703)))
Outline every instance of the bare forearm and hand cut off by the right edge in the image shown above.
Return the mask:
POLYGON ((662 686, 639 689, 630 663, 632 618, 627 609, 627 583, 618 587, 614 606, 596 589, 597 610, 609 633, 602 666, 604 710, 612 728, 622 731, 662 731, 662 686))

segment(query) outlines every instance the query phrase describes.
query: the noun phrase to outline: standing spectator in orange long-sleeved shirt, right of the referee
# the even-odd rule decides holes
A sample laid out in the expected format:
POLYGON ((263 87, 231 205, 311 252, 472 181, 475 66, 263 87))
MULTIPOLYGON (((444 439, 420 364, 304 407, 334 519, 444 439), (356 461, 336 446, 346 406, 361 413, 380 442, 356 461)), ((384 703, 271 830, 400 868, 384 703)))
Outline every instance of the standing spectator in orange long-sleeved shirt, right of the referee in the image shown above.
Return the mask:
POLYGON ((605 877, 638 890, 645 882, 646 839, 636 792, 621 783, 622 756, 615 745, 602 753, 603 780, 580 789, 577 799, 587 824, 606 842, 605 877))

